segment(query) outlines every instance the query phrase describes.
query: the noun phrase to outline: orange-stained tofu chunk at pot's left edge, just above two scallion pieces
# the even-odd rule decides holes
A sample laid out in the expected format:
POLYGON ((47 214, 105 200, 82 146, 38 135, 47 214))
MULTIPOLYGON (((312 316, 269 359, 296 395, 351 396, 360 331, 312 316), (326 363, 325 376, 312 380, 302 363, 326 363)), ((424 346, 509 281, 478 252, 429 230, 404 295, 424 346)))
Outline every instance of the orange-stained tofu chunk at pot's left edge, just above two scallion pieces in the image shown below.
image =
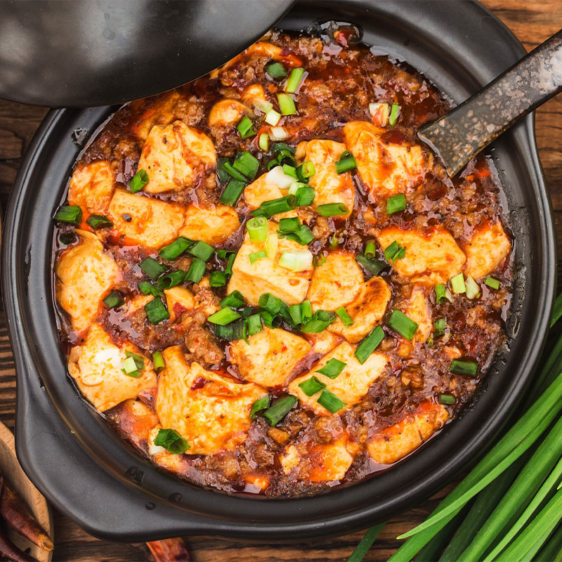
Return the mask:
POLYGON ((68 187, 68 202, 89 214, 105 214, 113 195, 113 172, 105 160, 78 166, 68 187))

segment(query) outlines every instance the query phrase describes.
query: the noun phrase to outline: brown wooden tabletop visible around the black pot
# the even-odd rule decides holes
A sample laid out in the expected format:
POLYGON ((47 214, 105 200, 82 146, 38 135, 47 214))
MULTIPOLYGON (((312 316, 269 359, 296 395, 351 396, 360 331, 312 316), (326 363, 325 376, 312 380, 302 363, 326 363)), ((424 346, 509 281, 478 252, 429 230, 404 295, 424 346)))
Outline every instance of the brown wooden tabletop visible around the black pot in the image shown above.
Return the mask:
MULTIPOLYGON (((484 0, 483 4, 507 24, 528 51, 562 27, 562 0, 484 0)), ((42 107, 0 100, 0 202, 3 209, 6 209, 22 155, 45 114, 46 110, 42 107)), ((550 100, 537 111, 537 142, 558 226, 562 223, 562 96, 550 100)), ((558 240, 561 237, 562 228, 558 228, 558 240)), ((562 250, 562 244, 559 243, 558 247, 562 250)), ((559 262, 562 261, 560 258, 559 252, 559 262)), ((4 313, 0 313, 0 419, 11 428, 14 408, 14 364, 6 320, 4 313)), ((450 487, 419 507, 393 518, 365 556, 365 561, 386 560, 398 546, 395 537, 414 523, 422 521, 448 489, 450 487)), ((151 559, 142 544, 114 544, 96 540, 65 516, 55 513, 54 517, 54 561, 124 562, 151 559)), ((358 532, 282 547, 277 544, 255 546, 204 537, 188 537, 187 542, 197 562, 345 561, 361 536, 362 533, 358 532)))

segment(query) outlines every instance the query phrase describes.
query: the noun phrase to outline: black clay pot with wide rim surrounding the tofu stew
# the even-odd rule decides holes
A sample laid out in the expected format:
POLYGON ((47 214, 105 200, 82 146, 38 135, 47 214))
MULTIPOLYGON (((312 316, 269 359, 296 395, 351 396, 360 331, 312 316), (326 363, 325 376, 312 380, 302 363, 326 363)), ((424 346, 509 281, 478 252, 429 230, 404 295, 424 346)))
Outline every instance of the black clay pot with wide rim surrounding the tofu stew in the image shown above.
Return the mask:
MULTIPOLYGON (((365 43, 423 72, 459 103, 516 62, 517 39, 472 1, 301 1, 280 27, 353 22, 365 43)), ((204 54, 202 54, 204 56, 204 54)), ((392 469, 301 499, 228 497, 159 471, 126 446, 67 377, 51 273, 52 216, 80 148, 115 108, 52 111, 27 152, 4 228, 2 282, 18 372, 15 437, 37 488, 98 537, 126 542, 175 535, 303 540, 365 528, 420 502, 491 445, 532 378, 549 326, 556 251, 533 118, 492 148, 516 238, 509 342, 459 419, 392 469)))

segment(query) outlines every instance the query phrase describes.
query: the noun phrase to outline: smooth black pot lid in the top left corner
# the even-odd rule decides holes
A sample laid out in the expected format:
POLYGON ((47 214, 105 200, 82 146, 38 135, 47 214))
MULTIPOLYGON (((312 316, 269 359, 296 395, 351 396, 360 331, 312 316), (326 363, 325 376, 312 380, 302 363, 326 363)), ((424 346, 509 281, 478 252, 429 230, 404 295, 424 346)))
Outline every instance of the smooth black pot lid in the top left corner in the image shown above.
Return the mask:
POLYGON ((0 2, 0 98, 112 105, 226 63, 295 0, 0 2))

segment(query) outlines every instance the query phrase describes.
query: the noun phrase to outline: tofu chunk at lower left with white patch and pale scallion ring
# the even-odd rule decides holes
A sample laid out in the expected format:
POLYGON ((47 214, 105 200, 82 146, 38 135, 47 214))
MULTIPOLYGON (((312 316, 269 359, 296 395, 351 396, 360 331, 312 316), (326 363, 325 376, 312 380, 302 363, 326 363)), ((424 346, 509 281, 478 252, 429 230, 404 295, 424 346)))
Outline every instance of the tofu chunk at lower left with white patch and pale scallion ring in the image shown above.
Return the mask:
POLYGON ((139 392, 156 385, 156 374, 150 359, 133 344, 113 344, 109 334, 97 322, 91 325, 84 343, 70 351, 68 372, 84 398, 100 412, 109 410, 123 400, 136 398, 139 392), (145 368, 138 378, 122 370, 126 351, 141 355, 145 362, 145 368))

